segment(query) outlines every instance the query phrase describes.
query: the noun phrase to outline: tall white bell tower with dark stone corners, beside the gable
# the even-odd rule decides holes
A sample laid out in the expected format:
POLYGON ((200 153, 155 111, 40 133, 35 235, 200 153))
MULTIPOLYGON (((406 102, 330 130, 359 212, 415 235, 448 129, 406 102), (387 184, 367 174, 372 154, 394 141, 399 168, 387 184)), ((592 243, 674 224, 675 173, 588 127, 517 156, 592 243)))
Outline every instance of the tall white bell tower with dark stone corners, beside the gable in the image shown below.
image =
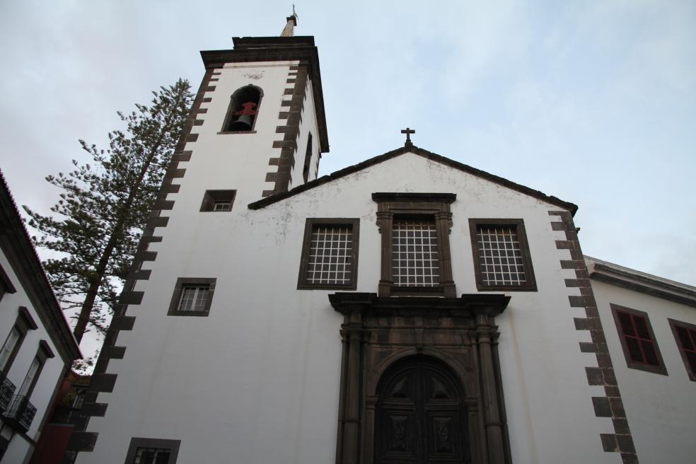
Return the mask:
MULTIPOLYGON (((144 392, 147 388, 139 382, 154 379, 138 373, 138 366, 160 365, 144 354, 178 350, 184 339, 226 344, 226 337, 211 332, 236 323, 200 321, 214 311, 210 302, 216 285, 218 294, 224 294, 241 282, 243 273, 235 266, 240 254, 259 249, 258 243, 240 245, 253 238, 247 205, 317 177, 321 155, 329 151, 319 57, 313 37, 294 35, 296 24, 293 13, 279 37, 236 37, 232 50, 201 52, 201 86, 105 336, 86 393, 85 415, 69 444, 70 453, 80 453, 78 463, 112 462, 112 456, 128 448, 132 430, 142 424, 134 418, 151 404, 147 395, 145 402, 132 400, 131 386, 140 385, 136 390, 144 392), (191 315, 198 317, 185 317, 191 315), (140 361, 121 363, 126 349, 140 361), (117 379, 123 386, 114 390, 117 379), (110 395, 114 391, 118 398, 110 395), (111 410, 127 412, 105 419, 110 404, 111 410)), ((240 308, 226 307, 230 300, 219 296, 217 304, 224 308, 214 311, 217 318, 236 317, 240 308)), ((214 351, 205 347, 199 352, 214 351)), ((171 359, 180 362, 177 372, 196 364, 180 358, 171 359)), ((153 443, 133 445, 129 453, 153 443)), ((155 448, 175 453, 173 441, 156 443, 155 448)))

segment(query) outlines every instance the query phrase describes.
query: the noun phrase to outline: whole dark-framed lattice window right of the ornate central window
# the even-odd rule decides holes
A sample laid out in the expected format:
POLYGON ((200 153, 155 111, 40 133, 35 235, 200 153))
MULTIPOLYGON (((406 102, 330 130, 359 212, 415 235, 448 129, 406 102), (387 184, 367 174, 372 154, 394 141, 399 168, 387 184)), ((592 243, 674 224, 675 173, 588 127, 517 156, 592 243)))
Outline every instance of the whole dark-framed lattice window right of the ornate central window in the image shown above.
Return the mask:
POLYGON ((521 219, 470 219, 469 227, 479 290, 536 290, 521 219))

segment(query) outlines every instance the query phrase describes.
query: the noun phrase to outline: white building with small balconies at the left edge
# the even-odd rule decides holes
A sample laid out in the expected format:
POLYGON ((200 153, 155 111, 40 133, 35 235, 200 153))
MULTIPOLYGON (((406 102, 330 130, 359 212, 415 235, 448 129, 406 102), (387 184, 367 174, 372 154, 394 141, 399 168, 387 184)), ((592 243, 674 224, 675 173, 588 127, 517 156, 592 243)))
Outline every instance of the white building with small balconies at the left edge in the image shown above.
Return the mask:
POLYGON ((0 175, 0 463, 28 463, 79 348, 0 175))

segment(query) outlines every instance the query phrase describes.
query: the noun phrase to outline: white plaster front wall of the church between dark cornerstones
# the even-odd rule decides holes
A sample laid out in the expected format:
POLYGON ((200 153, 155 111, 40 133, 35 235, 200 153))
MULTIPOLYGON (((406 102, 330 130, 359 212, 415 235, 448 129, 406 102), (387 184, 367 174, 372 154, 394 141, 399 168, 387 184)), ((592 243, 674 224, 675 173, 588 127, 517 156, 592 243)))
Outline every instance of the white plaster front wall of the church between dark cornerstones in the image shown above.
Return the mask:
MULTIPOLYGON (((267 88, 270 95, 274 87, 267 88)), ((302 237, 307 217, 360 218, 357 291, 376 292, 381 240, 372 192, 458 195, 450 236, 458 294, 476 292, 468 219, 524 220, 538 292, 511 292, 497 318, 513 460, 620 462, 601 447, 599 434, 613 427, 593 413, 591 397, 603 392, 586 381, 584 367, 593 360, 578 343, 589 335, 574 327, 581 309, 569 308, 568 295, 579 292, 564 285, 575 275, 559 269, 569 252, 557 250, 562 236, 548 215, 558 207, 405 154, 250 210, 246 204, 260 193, 256 173, 265 170, 244 149, 224 151, 224 138, 234 136, 212 137, 221 105, 214 100, 204 115, 214 118, 212 128, 206 122, 198 129, 211 137, 196 142, 180 192, 168 197, 175 200, 168 226, 155 231, 163 240, 149 248, 156 261, 144 265, 153 272, 135 288, 145 292, 143 301, 128 309, 137 317, 134 330, 118 336, 126 354, 109 364, 118 375, 115 390, 98 398, 108 402, 107 414, 88 428, 100 439, 78 463, 120 464, 132 436, 180 439, 181 463, 333 462, 342 316, 328 303, 332 291, 296 289, 302 237), (198 212, 205 189, 234 187, 233 211, 198 212), (208 317, 166 315, 178 277, 216 277, 208 317)), ((261 130, 269 122, 257 124, 261 130)), ((253 137, 239 137, 255 146, 253 137)))

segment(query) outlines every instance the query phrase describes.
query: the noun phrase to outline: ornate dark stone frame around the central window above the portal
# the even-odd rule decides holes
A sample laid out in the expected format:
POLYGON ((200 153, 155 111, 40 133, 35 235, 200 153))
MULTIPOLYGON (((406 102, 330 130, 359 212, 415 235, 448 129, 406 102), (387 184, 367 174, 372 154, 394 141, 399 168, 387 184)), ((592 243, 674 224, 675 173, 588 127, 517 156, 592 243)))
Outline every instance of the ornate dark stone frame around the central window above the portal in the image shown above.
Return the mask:
POLYGON ((452 278, 452 258, 449 234, 452 228, 450 204, 457 198, 454 193, 394 193, 377 192, 372 199, 377 203, 377 226, 381 234, 381 276, 379 296, 445 296, 456 297, 452 278), (395 219, 422 219, 435 223, 439 247, 439 285, 398 286, 393 280, 393 224, 395 219))

